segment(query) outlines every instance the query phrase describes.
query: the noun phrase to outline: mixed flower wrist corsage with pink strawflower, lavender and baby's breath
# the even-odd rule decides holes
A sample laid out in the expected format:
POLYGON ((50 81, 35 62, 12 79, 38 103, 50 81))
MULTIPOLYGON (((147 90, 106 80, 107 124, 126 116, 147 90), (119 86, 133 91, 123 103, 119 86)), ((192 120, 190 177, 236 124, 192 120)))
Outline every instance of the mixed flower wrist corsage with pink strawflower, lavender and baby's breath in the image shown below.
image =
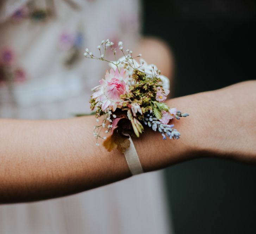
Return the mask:
POLYGON ((109 39, 102 40, 97 48, 99 57, 88 49, 85 57, 106 61, 111 69, 106 71, 105 79, 99 81, 99 86, 92 89, 94 93, 90 99, 90 108, 96 112, 96 122, 100 121, 100 125, 94 126, 96 145, 99 146, 98 140, 102 138, 109 152, 117 149, 124 153, 130 146, 129 137, 139 137, 144 126, 159 132, 163 139, 179 139, 180 133, 169 122, 188 114, 169 108, 164 103, 169 94, 166 87, 168 78, 161 75, 155 65, 148 65, 143 59, 138 62, 141 54, 133 57, 132 51, 124 51, 122 42, 114 47, 109 39), (105 56, 107 49, 112 50, 114 57, 119 49, 123 57, 109 61, 105 56), (102 137, 102 130, 110 135, 102 137))

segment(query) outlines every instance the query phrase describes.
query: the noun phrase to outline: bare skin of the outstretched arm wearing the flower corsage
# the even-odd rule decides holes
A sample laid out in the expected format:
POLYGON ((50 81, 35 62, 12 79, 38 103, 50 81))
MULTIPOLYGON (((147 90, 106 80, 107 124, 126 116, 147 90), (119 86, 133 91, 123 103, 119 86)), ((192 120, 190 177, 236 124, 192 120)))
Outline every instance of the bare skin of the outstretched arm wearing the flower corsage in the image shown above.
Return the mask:
MULTIPOLYGON (((168 100, 190 116, 173 120, 179 140, 145 129, 133 139, 144 171, 198 157, 256 162, 256 81, 168 100), (226 116, 226 117, 225 117, 226 116)), ((0 202, 65 196, 130 176, 124 156, 95 146, 94 116, 0 121, 0 202)))

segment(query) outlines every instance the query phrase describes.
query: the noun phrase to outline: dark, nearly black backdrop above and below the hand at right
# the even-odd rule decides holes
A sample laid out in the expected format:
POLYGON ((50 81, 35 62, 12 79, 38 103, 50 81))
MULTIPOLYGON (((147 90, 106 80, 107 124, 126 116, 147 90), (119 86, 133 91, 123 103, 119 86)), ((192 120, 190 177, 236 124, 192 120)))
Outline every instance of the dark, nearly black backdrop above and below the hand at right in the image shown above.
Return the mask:
MULTIPOLYGON (((249 0, 143 1, 143 33, 164 39, 175 57, 174 97, 255 79, 255 7, 249 0)), ((255 166, 196 159, 166 169, 165 179, 176 234, 256 233, 255 166)))

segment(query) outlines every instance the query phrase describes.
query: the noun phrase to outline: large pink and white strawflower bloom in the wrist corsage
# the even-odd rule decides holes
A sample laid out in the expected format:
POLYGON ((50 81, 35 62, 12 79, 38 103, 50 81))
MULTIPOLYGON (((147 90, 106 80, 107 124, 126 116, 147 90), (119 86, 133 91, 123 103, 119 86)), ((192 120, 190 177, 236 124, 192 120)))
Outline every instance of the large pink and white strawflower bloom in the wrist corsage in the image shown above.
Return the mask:
POLYGON ((106 71, 105 80, 100 80, 100 85, 93 88, 96 92, 92 95, 97 103, 95 107, 101 105, 101 109, 106 111, 107 108, 115 111, 116 108, 121 108, 122 100, 120 95, 127 93, 129 87, 126 85, 127 79, 126 71, 122 68, 120 73, 118 69, 115 71, 110 69, 110 73, 106 71))

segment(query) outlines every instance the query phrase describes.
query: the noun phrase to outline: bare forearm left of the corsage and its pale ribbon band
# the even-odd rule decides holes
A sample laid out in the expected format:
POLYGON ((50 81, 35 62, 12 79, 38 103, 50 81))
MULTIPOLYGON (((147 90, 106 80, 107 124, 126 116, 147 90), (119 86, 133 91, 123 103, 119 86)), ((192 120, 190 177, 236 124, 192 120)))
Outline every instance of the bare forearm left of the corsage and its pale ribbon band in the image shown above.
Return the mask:
POLYGON ((125 158, 95 146, 95 117, 0 121, 0 203, 64 196, 130 176, 125 158))

